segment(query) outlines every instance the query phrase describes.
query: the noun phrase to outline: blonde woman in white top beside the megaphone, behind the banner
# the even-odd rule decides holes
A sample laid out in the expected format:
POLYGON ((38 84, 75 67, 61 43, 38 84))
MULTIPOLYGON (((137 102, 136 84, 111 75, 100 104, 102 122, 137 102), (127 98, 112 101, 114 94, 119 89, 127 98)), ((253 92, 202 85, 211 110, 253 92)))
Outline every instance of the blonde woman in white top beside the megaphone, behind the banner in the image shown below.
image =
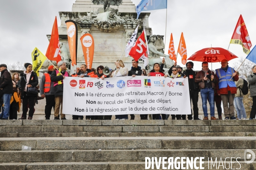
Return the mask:
MULTIPOLYGON (((116 70, 113 71, 111 77, 124 77, 128 76, 128 68, 125 67, 125 64, 122 60, 116 60, 116 70)), ((128 114, 116 115, 116 120, 128 120, 128 114)))

